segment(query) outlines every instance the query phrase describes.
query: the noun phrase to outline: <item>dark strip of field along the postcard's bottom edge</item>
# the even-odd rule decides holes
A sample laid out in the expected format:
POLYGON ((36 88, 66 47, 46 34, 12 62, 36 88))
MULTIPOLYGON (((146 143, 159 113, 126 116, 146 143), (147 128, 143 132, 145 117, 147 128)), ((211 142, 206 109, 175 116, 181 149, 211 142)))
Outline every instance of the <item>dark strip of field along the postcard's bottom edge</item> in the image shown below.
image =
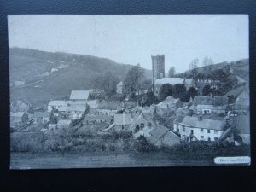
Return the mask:
POLYGON ((21 154, 12 153, 11 169, 100 168, 142 166, 214 166, 213 160, 174 160, 172 155, 152 152, 103 154, 21 154))

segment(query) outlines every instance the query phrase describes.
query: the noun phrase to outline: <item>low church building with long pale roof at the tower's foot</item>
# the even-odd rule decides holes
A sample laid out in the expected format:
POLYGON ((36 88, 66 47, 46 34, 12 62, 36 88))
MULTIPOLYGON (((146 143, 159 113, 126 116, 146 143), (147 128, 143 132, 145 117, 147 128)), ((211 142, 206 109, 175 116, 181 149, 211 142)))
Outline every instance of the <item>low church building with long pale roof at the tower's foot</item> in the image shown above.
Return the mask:
POLYGON ((186 89, 188 90, 190 87, 195 87, 194 79, 183 79, 183 78, 162 78, 156 79, 154 83, 154 96, 158 96, 160 87, 163 84, 184 84, 186 89))

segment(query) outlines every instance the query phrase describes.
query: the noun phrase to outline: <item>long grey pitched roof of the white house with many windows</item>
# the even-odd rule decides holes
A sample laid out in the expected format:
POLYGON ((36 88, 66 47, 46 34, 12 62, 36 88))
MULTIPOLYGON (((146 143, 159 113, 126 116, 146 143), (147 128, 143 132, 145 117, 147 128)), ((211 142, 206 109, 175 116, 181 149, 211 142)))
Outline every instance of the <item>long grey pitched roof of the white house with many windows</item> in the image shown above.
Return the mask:
POLYGON ((198 117, 185 116, 181 122, 185 126, 191 126, 199 129, 208 129, 208 130, 219 130, 224 129, 225 121, 224 120, 212 120, 212 119, 201 119, 198 117))

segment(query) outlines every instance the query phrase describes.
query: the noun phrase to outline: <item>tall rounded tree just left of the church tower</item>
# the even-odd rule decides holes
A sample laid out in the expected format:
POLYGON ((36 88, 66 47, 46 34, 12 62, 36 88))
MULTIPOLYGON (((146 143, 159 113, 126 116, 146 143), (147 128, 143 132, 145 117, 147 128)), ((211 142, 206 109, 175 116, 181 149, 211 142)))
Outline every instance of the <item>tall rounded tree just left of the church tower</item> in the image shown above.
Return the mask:
POLYGON ((137 64, 137 66, 131 67, 131 69, 125 75, 124 79, 125 92, 128 94, 138 95, 142 86, 143 75, 144 70, 142 67, 140 67, 139 64, 137 64))

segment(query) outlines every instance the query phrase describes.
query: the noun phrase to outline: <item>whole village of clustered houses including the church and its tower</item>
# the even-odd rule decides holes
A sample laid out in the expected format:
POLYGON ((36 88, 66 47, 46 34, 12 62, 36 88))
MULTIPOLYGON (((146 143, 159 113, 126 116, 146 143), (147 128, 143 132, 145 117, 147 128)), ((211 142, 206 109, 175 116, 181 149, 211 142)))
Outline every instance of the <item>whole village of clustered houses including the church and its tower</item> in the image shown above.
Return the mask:
POLYGON ((29 151, 26 141, 31 138, 49 150, 72 150, 73 146, 86 145, 93 148, 93 141, 99 143, 95 150, 101 151, 131 149, 137 141, 146 143, 147 150, 180 143, 250 143, 247 89, 230 102, 227 96, 206 91, 218 88, 218 79, 165 76, 165 55, 156 55, 152 56, 152 86, 137 88, 132 96, 126 89, 128 85, 121 81, 116 84, 115 94, 120 96, 116 101, 99 97, 104 90, 97 88, 71 90, 69 99, 51 100, 40 109, 32 108, 22 98, 11 101, 11 150, 29 151), (172 94, 166 94, 170 84, 172 94), (179 90, 187 93, 186 99, 179 90), (193 94, 188 95, 191 91, 193 94), (162 101, 147 102, 150 96, 162 101), (40 138, 35 137, 37 134, 40 138), (19 137, 24 145, 19 142, 21 139, 15 139, 19 137))

